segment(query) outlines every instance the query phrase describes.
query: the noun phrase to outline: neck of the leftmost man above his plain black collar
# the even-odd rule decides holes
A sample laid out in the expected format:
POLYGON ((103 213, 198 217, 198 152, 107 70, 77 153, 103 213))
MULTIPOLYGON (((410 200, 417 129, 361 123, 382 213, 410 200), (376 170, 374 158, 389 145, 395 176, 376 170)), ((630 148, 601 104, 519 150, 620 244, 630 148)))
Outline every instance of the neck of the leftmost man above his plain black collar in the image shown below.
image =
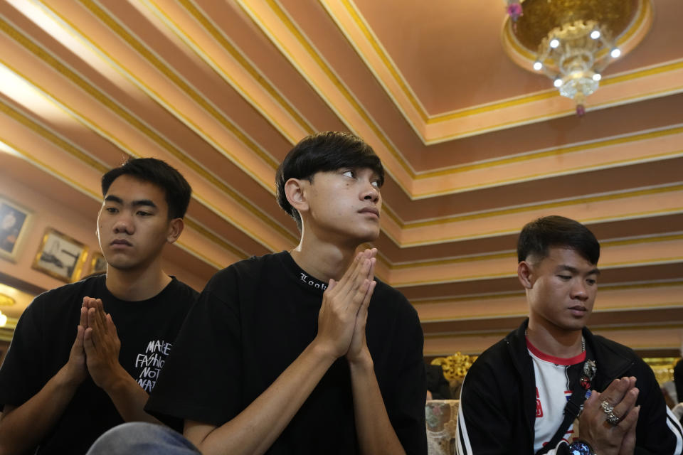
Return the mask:
POLYGON ((107 266, 107 289, 117 298, 125 301, 151 299, 171 282, 161 267, 137 269, 115 269, 107 266))

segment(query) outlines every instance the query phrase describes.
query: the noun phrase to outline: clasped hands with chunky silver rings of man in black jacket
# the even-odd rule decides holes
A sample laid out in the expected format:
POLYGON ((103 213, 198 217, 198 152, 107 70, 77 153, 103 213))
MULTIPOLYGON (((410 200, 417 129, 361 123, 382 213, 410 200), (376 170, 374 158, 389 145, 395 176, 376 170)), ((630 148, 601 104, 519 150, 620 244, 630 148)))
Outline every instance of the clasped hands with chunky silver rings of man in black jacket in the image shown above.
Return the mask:
POLYGON ((615 379, 602 393, 593 391, 583 404, 579 436, 596 454, 633 454, 640 412, 640 406, 635 406, 638 392, 634 377, 615 379))

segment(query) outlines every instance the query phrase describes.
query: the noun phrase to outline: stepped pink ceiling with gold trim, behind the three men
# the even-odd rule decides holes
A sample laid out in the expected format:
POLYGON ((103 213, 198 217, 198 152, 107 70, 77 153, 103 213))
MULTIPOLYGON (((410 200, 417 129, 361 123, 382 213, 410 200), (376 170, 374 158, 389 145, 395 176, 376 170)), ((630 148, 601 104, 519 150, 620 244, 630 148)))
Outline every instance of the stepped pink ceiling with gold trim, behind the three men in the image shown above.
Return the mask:
POLYGON ((0 0, 0 177, 94 228, 104 171, 168 161, 194 188, 169 262, 201 286, 296 244, 275 168, 305 135, 350 130, 386 166, 377 273, 418 310, 425 355, 478 353, 517 326, 517 232, 548 214, 602 242, 596 331, 671 353, 683 3, 652 4, 580 119, 507 57, 500 1, 0 0))

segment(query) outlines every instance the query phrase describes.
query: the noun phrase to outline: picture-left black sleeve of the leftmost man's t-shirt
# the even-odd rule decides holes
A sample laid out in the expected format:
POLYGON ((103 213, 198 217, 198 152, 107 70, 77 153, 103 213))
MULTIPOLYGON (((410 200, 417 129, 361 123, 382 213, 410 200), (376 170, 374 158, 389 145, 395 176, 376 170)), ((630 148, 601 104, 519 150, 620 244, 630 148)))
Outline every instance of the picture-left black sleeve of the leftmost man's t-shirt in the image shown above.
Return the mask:
POLYGON ((4 405, 23 405, 47 382, 41 368, 45 344, 39 299, 41 296, 36 297, 19 317, 9 350, 0 368, 2 408, 4 405))

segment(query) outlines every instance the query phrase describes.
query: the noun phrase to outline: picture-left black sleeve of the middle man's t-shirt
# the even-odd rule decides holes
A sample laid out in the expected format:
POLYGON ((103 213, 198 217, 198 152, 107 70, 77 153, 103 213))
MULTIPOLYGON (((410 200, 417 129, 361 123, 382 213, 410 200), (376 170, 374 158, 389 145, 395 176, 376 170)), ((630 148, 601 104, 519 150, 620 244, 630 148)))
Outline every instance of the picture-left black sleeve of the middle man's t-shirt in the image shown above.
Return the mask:
POLYGON ((219 426, 241 412, 235 281, 231 269, 218 272, 189 311, 145 407, 162 421, 170 416, 219 426))

